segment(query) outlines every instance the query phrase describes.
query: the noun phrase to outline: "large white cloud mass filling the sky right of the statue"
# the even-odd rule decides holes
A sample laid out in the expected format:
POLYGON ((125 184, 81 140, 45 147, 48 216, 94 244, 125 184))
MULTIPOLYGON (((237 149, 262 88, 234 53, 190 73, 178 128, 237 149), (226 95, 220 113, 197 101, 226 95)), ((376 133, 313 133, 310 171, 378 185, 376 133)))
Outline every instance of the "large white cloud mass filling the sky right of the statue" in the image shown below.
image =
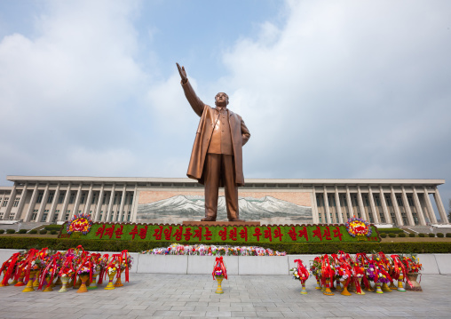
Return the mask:
POLYGON ((252 134, 247 176, 431 174, 427 156, 451 136, 451 4, 288 4, 284 25, 264 24, 224 57, 231 76, 221 81, 252 134))

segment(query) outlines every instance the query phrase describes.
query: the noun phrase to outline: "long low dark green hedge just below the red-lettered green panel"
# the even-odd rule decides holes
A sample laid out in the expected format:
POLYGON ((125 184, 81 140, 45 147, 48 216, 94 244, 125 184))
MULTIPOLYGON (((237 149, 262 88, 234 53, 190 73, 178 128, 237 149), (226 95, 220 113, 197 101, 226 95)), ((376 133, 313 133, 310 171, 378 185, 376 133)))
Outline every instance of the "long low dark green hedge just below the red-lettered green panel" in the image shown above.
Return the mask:
MULTIPOLYGON (((157 247, 167 247, 169 242, 144 241, 102 241, 42 237, 0 237, 2 249, 28 249, 48 247, 67 250, 79 244, 87 251, 146 251, 157 247)), ((211 243, 220 245, 222 243, 211 243)), ((256 245, 256 243, 249 243, 256 245)), ((349 253, 384 251, 384 253, 450 253, 451 243, 259 243, 261 247, 273 251, 287 251, 289 254, 323 254, 346 251, 349 253)))

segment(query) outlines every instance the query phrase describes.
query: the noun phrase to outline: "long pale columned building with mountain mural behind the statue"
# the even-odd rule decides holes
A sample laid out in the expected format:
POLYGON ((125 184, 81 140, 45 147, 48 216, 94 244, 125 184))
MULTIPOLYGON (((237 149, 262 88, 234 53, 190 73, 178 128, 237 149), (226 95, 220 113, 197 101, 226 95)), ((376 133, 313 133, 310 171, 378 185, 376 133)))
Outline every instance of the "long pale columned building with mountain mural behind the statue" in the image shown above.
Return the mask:
MULTIPOLYGON (((3 220, 60 223, 88 213, 94 221, 177 224, 203 215, 203 187, 193 179, 7 179, 14 184, 0 187, 3 220)), ((378 225, 448 224, 438 189, 444 183, 444 179, 246 179, 239 194, 241 218, 262 224, 336 224, 352 216, 378 225)), ((220 199, 219 211, 224 207, 220 199)), ((222 217, 226 219, 224 213, 222 217)))

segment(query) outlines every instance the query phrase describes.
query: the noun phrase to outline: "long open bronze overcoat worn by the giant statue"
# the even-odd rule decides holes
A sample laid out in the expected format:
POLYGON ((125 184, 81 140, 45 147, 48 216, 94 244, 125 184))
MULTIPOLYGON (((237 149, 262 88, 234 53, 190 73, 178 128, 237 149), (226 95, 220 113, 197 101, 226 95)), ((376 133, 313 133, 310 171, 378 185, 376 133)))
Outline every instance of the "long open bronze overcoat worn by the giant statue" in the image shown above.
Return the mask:
MULTIPOLYGON (((194 139, 193 151, 191 152, 191 159, 188 165, 188 171, 186 175, 190 179, 197 179, 199 183, 203 184, 203 167, 205 163, 205 157, 207 156, 207 150, 210 145, 211 135, 213 134, 213 128, 218 120, 219 112, 216 108, 204 104, 201 99, 197 97, 193 87, 189 84, 182 84, 185 91, 186 99, 188 100, 194 112, 201 116, 199 126, 194 139)), ((236 186, 244 185, 244 175, 242 173, 242 146, 250 138, 250 133, 246 124, 242 120, 241 116, 229 111, 229 125, 230 133, 232 136, 233 144, 233 157, 234 157, 234 174, 236 186)), ((221 180, 221 187, 224 183, 221 180)))

